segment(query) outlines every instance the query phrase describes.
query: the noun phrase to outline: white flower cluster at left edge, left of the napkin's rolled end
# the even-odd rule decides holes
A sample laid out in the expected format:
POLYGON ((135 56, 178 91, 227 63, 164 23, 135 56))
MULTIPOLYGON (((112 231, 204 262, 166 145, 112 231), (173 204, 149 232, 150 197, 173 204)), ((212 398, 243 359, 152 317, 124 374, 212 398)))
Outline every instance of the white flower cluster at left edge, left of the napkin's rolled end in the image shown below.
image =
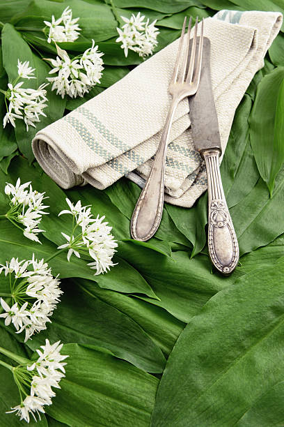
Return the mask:
POLYGON ((10 102, 7 107, 7 113, 3 119, 3 127, 11 123, 15 128, 15 119, 22 119, 26 123, 26 130, 29 126, 36 127, 35 123, 40 121, 40 116, 45 116, 43 112, 47 107, 47 91, 45 87, 48 83, 41 84, 38 89, 25 89, 22 87, 24 82, 18 82, 19 78, 34 79, 34 68, 29 66, 29 61, 24 63, 18 59, 17 64, 18 77, 13 83, 8 83, 8 89, 5 92, 5 98, 10 102))

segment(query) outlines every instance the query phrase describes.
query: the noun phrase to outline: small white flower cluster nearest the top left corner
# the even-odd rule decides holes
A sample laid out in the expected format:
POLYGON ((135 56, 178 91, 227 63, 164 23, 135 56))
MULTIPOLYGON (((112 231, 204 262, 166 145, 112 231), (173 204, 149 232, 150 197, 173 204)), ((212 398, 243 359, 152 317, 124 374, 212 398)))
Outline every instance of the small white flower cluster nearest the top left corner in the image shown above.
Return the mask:
POLYGON ((65 8, 63 13, 58 20, 55 19, 52 15, 52 22, 44 21, 45 25, 49 27, 49 34, 47 38, 47 43, 53 42, 74 42, 79 37, 79 25, 77 22, 78 18, 72 20, 72 10, 65 8))

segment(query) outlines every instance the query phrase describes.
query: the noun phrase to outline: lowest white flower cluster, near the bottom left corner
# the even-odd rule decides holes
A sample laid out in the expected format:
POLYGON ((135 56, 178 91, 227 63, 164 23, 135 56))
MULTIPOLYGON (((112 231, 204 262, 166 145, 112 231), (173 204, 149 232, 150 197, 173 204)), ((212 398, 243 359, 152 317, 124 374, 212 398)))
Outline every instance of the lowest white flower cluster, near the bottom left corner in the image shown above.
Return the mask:
POLYGON ((66 363, 63 360, 68 356, 61 354, 62 347, 60 341, 50 345, 49 340, 45 340, 45 345, 41 345, 42 351, 36 350, 39 357, 33 364, 14 368, 13 375, 21 385, 21 391, 26 390, 29 384, 30 390, 24 400, 7 413, 16 412, 20 420, 29 423, 30 414, 37 421, 35 414, 40 419, 40 412, 45 413, 44 406, 52 405, 52 398, 56 396, 52 387, 60 389, 59 382, 65 377, 66 363))

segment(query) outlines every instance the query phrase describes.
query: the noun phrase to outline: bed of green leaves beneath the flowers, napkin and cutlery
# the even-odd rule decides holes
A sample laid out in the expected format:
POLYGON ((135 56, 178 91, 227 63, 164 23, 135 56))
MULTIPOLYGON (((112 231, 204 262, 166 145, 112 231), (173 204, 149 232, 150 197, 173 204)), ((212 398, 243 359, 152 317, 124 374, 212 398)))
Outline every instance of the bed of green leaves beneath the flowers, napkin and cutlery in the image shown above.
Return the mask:
MULTIPOLYGON (((178 38, 184 15, 207 17, 223 8, 283 11, 283 1, 2 1, 1 89, 13 79, 18 58, 36 68, 37 79, 29 85, 45 81, 49 66, 41 58, 55 50, 47 43, 42 21, 67 6, 74 17, 80 16, 82 31, 76 42, 61 47, 75 56, 95 38, 104 52, 104 76, 76 100, 61 100, 49 89, 47 119, 36 130, 26 133, 23 123, 15 131, 0 128, 0 213, 8 209, 5 182, 15 183, 17 177, 46 191, 50 204, 49 215, 42 218, 42 245, 0 220, 0 262, 56 252, 63 243, 61 231, 70 227, 68 216, 57 216, 69 197, 90 204, 95 215, 106 215, 118 239, 118 266, 93 276, 88 260, 68 263, 61 254, 50 265, 61 276, 64 294, 47 330, 24 345, 22 335, 0 322, 0 345, 17 354, 31 357, 49 338, 62 340, 70 355, 62 388, 38 425, 284 425, 283 33, 237 108, 221 165, 242 255, 228 278, 212 269, 207 256, 206 194, 191 209, 166 204, 155 238, 141 244, 129 237, 140 193, 134 183, 121 179, 103 191, 90 186, 63 191, 33 161, 31 151, 39 128, 141 63, 134 52, 126 59, 115 42, 120 15, 141 10, 157 19, 159 50, 178 38)), ((0 111, 3 116, 1 94, 0 111)), ((19 426, 14 414, 5 414, 18 404, 17 388, 9 371, 0 368, 0 375, 0 424, 19 426)))

